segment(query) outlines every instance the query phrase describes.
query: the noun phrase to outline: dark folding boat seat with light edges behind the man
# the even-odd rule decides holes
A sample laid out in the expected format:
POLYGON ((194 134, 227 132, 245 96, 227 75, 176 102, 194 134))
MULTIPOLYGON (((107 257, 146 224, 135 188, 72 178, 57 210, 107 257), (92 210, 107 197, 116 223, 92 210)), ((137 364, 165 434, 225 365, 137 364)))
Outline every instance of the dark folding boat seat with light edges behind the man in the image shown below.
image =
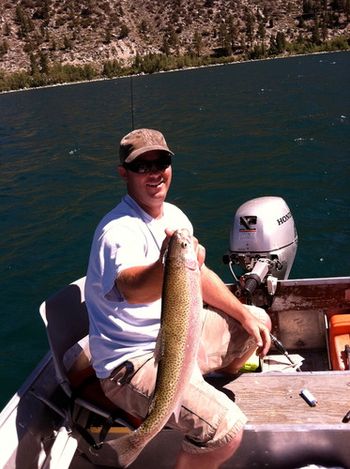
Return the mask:
MULTIPOLYGON (((84 287, 85 277, 67 285, 40 306, 58 383, 75 405, 133 429, 139 422, 103 394, 91 366, 84 287)), ((73 426, 74 423, 70 422, 73 426)))

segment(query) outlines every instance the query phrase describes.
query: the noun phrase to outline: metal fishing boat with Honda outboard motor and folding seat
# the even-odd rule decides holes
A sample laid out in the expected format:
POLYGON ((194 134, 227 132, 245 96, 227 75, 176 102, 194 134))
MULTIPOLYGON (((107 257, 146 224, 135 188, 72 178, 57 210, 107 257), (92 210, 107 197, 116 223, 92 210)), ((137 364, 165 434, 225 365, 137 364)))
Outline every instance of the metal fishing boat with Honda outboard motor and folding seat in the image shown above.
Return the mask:
MULTIPOLYGON (((273 345, 235 376, 206 376, 248 417, 224 468, 350 468, 350 277, 286 278, 296 245, 280 198, 253 199, 237 211, 225 262, 245 271, 227 286, 243 302, 266 308, 273 345)), ((2 468, 118 467, 113 444, 139 425, 99 392, 84 284, 82 277, 40 306, 50 350, 0 414, 2 468)), ((181 441, 165 427, 130 467, 172 468, 181 441)))

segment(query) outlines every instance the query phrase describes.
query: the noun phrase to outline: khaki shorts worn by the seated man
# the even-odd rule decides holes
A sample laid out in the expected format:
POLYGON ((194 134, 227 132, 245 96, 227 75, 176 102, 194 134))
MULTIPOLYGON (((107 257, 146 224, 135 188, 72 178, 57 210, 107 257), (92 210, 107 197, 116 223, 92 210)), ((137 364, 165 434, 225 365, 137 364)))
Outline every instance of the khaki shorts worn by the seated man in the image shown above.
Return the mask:
MULTIPOLYGON (((264 310, 249 308, 263 320, 264 310)), ((202 374, 227 366, 253 347, 254 340, 236 320, 220 311, 203 308, 199 367, 184 392, 178 421, 172 415, 167 424, 185 434, 186 451, 211 451, 227 444, 242 430, 247 421, 244 413, 226 394, 208 384, 202 374)), ((130 361, 134 371, 126 384, 118 384, 126 373, 126 368, 118 367, 109 378, 101 379, 101 386, 118 407, 144 419, 155 388, 157 367, 152 352, 130 361)))

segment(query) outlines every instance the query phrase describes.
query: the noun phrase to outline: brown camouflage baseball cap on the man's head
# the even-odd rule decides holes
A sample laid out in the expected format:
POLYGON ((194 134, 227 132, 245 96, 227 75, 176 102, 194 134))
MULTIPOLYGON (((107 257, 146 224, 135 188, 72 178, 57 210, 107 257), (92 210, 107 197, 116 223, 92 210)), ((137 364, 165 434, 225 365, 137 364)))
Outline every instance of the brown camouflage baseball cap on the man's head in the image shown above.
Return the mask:
POLYGON ((161 132, 153 129, 136 129, 128 133, 120 141, 120 162, 130 163, 143 153, 160 150, 167 154, 174 153, 169 150, 165 138, 161 132))

